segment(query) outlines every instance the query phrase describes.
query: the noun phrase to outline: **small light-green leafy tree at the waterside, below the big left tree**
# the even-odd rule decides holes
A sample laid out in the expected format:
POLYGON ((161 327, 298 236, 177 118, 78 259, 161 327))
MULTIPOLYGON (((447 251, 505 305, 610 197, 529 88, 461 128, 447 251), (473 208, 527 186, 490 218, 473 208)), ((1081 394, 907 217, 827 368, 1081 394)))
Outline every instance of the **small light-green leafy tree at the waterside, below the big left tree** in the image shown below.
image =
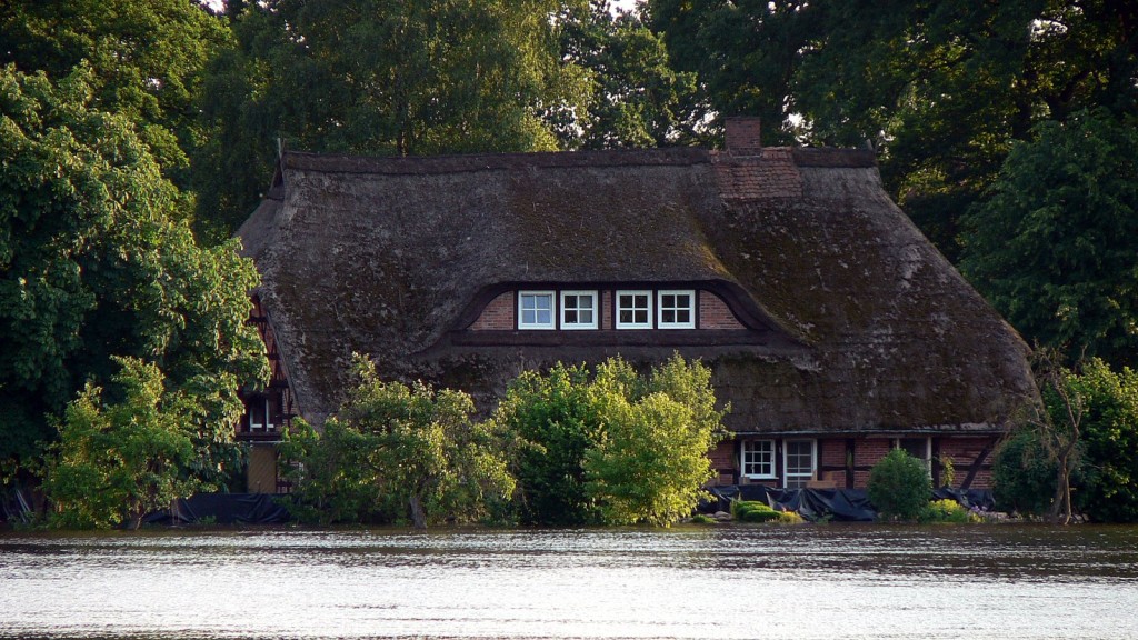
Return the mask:
POLYGON ((196 459, 197 400, 166 392, 154 364, 115 361, 123 400, 104 403, 102 389, 89 384, 67 405, 59 440, 46 457, 50 526, 137 528, 142 516, 198 487, 188 473, 196 459))

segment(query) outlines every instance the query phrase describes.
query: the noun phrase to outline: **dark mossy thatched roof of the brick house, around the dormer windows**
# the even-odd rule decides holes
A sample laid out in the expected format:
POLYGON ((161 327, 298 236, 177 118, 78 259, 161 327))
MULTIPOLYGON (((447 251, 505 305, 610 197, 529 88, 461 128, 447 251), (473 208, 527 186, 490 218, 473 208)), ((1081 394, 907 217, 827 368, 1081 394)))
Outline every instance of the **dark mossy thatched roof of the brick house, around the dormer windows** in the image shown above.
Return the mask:
POLYGON ((353 352, 488 408, 526 368, 675 350, 712 367, 744 433, 992 432, 1032 388, 1025 345, 890 202, 865 151, 286 153, 239 235, 318 424, 353 352), (748 329, 676 345, 463 338, 495 293, 574 282, 723 292, 748 329))

